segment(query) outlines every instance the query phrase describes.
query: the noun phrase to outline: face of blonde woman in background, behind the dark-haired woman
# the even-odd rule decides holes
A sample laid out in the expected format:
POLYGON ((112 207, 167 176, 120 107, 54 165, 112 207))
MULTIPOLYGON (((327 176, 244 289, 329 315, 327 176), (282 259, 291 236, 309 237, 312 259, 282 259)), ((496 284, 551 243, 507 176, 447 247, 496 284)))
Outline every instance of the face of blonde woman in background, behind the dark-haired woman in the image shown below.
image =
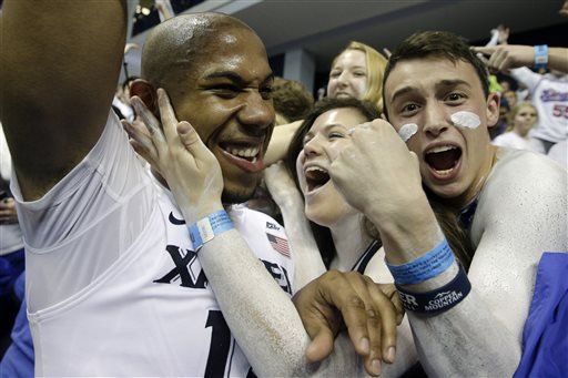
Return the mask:
POLYGON ((337 57, 327 83, 329 98, 363 99, 367 91, 367 61, 358 50, 345 50, 337 57))

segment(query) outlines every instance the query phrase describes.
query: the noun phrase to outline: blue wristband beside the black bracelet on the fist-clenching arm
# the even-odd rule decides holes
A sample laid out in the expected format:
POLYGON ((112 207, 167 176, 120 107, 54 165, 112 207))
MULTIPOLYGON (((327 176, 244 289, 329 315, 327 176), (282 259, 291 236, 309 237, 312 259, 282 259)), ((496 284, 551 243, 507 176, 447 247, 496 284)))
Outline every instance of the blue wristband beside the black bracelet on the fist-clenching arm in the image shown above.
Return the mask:
POLYGON ((403 265, 386 264, 398 285, 419 284, 445 272, 454 263, 446 238, 426 255, 403 265))

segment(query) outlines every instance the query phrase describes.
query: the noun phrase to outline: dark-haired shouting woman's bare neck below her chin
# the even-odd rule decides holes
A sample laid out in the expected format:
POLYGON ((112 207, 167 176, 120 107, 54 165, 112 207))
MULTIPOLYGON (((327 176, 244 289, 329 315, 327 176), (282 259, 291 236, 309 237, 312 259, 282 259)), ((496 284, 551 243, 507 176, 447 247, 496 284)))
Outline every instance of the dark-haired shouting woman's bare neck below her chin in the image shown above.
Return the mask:
POLYGON ((337 252, 331 268, 342 272, 351 270, 373 241, 363 227, 362 216, 354 214, 344 217, 329 229, 337 252))

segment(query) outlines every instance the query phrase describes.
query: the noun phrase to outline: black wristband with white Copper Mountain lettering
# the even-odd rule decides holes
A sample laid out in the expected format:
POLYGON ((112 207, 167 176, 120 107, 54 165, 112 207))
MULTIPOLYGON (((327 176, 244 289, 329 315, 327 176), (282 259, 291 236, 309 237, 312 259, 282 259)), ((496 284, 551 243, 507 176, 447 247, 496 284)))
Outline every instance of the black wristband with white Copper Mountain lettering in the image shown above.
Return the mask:
POLYGON ((462 264, 458 265, 457 276, 448 284, 432 292, 414 293, 395 285, 404 308, 414 313, 438 314, 447 311, 464 300, 471 290, 471 284, 462 264))

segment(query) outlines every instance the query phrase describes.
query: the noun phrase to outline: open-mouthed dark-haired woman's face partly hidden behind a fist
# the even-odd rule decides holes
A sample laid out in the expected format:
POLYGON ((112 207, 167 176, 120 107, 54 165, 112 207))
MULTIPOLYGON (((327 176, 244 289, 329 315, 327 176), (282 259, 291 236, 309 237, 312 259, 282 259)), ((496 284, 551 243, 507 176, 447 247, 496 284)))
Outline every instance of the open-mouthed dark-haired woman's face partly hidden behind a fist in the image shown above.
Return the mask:
POLYGON ((334 109, 320 115, 304 137, 296 162, 306 217, 333 227, 346 215, 356 214, 329 180, 329 165, 346 146, 347 131, 367 120, 353 108, 334 109))

